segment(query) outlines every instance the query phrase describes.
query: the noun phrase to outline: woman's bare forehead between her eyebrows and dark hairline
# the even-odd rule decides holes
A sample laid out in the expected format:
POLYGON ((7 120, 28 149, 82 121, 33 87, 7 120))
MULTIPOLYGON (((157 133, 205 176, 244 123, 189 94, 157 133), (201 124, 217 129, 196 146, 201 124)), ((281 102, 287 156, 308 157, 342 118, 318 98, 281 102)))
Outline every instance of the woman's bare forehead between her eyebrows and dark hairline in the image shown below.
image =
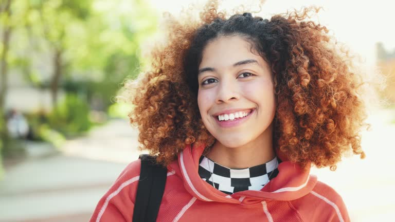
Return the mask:
POLYGON ((263 65, 262 57, 253 52, 252 45, 241 36, 221 36, 206 45, 199 68, 206 66, 225 68, 246 59, 257 60, 263 65))

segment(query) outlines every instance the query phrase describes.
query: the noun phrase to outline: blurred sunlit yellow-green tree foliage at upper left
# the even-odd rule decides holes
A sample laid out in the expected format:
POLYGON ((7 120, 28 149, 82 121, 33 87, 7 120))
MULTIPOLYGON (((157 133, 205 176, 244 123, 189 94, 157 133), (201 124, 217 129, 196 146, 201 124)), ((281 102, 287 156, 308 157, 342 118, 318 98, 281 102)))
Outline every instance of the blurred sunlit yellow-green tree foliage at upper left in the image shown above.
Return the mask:
MULTIPOLYGON (((51 91, 53 127, 85 131, 89 124, 75 121, 88 119, 92 108, 107 110, 123 80, 136 76, 138 47, 155 32, 156 21, 152 9, 138 0, 2 0, 0 36, 12 30, 4 57, 7 73, 51 91), (58 91, 66 94, 59 101, 58 91)), ((0 58, 4 49, 2 41, 0 58)))

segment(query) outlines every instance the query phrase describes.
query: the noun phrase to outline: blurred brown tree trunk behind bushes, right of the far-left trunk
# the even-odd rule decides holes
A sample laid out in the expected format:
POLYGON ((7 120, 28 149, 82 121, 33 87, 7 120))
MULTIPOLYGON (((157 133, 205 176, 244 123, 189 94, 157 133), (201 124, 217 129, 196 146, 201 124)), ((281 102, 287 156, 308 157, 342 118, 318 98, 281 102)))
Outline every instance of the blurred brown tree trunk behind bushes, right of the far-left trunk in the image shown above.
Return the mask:
POLYGON ((53 110, 57 110, 58 106, 58 89, 59 82, 62 77, 62 50, 59 48, 55 48, 55 53, 53 55, 53 72, 52 72, 52 81, 51 81, 51 99, 52 99, 52 108, 53 110))

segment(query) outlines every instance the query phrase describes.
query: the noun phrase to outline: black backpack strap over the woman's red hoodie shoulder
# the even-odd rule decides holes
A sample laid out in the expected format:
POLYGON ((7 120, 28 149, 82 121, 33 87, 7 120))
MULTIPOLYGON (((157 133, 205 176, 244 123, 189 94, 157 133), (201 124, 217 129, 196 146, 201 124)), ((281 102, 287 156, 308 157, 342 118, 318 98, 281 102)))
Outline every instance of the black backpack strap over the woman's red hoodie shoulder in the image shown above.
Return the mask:
POLYGON ((134 203, 133 222, 154 222, 159 212, 167 178, 167 169, 155 156, 140 155, 141 170, 134 203))

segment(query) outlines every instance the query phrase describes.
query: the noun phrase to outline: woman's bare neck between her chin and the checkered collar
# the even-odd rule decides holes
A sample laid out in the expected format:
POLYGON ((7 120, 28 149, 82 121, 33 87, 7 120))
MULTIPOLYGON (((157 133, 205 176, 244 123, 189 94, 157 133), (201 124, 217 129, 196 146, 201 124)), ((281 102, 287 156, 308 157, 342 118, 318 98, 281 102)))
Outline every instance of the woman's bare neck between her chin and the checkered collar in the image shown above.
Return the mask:
POLYGON ((226 147, 217 140, 207 157, 230 169, 244 169, 269 162, 275 157, 272 126, 255 140, 239 147, 226 147))

